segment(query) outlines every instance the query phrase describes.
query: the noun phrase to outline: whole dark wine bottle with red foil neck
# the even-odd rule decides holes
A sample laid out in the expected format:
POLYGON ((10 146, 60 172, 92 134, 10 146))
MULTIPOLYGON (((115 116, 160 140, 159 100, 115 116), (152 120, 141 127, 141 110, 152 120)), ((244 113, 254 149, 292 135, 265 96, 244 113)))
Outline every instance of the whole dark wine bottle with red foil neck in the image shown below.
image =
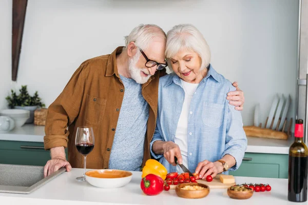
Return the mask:
POLYGON ((295 140, 289 149, 288 194, 287 199, 294 202, 307 200, 308 150, 303 142, 303 120, 296 120, 295 140))

